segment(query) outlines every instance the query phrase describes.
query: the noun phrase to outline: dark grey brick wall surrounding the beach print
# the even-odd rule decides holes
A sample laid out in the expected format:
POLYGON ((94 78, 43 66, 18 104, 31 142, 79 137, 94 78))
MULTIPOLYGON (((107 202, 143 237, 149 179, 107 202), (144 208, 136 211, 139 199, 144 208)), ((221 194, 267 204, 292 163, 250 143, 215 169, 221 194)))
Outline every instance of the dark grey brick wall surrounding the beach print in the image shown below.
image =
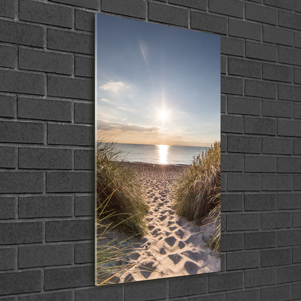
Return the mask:
POLYGON ((301 299, 299 0, 1 0, 0 300, 301 299), (94 286, 94 14, 221 36, 221 272, 94 286))

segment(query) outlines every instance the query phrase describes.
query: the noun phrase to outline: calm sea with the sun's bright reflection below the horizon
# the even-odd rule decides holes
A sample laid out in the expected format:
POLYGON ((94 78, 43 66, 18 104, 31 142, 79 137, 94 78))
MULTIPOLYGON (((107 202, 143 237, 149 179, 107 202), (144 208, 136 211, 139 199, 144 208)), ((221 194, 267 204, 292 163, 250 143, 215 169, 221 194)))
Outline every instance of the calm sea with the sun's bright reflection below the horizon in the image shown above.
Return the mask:
POLYGON ((206 150, 206 147, 195 146, 123 143, 116 143, 116 147, 129 153, 125 161, 159 164, 189 164, 192 162, 193 156, 206 150))

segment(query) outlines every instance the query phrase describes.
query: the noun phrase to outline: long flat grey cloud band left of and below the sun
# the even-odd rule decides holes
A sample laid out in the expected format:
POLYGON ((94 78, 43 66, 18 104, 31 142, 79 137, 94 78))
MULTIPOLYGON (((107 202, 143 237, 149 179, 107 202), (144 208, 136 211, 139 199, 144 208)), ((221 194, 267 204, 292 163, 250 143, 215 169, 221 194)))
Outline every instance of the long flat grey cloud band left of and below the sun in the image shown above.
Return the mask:
POLYGON ((98 126, 101 126, 106 131, 117 131, 117 132, 159 132, 160 128, 157 126, 138 126, 132 123, 117 123, 108 122, 105 120, 97 120, 98 126))

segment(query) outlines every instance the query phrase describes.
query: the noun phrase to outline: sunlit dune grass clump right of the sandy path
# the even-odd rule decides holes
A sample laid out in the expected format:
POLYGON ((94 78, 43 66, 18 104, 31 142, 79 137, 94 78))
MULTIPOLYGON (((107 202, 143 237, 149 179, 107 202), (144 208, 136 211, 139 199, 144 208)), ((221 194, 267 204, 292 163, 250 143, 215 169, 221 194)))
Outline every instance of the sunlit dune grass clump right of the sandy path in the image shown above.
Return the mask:
POLYGON ((187 172, 174 187, 174 209, 178 215, 196 223, 211 220, 219 225, 208 242, 214 250, 220 250, 220 162, 220 142, 216 141, 193 157, 187 172))

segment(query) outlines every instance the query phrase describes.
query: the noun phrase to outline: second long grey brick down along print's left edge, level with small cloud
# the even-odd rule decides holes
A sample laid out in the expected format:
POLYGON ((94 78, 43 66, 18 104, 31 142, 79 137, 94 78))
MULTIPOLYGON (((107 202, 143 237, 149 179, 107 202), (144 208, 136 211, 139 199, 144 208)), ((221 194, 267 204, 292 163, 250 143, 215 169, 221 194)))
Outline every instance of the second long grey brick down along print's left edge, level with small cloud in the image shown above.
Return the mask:
POLYGON ((94 100, 94 80, 48 75, 48 96, 94 100))

